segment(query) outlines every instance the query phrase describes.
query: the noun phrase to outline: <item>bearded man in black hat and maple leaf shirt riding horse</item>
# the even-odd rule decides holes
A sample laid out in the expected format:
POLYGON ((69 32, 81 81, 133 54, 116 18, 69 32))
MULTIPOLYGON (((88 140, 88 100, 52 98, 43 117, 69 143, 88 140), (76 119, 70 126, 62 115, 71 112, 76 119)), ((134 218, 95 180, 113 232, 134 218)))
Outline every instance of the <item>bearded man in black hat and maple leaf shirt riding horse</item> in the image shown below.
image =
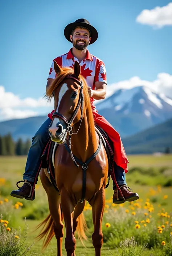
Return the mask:
MULTIPOLYGON (((55 59, 60 66, 73 67, 74 62, 78 61, 81 66, 81 74, 85 77, 88 84, 88 93, 93 110, 95 123, 105 130, 114 143, 114 170, 115 177, 122 192, 119 193, 116 184, 113 183, 114 203, 124 203, 125 201, 134 201, 139 198, 137 193, 132 193, 128 190, 125 173, 128 171, 128 159, 125 154, 122 141, 119 133, 106 121, 104 117, 98 114, 95 109, 94 100, 104 99, 106 96, 106 69, 105 64, 99 58, 91 55, 87 50, 89 44, 93 44, 98 38, 97 30, 90 25, 89 21, 85 19, 78 19, 66 26, 64 35, 69 42, 72 42, 73 48, 68 53, 61 55, 55 59)), ((48 82, 46 89, 56 77, 54 71, 54 60, 50 68, 48 82)), ((34 189, 34 184, 37 183, 37 172, 41 164, 41 155, 49 140, 48 128, 52 121, 52 114, 48 114, 48 119, 43 123, 40 129, 33 137, 32 146, 28 153, 25 173, 23 175, 24 185, 19 190, 13 190, 11 195, 17 198, 25 198, 27 200, 34 200, 35 193, 31 191, 34 189), (35 180, 36 179, 36 180, 35 180)), ((23 181, 21 181, 23 182, 23 181)))

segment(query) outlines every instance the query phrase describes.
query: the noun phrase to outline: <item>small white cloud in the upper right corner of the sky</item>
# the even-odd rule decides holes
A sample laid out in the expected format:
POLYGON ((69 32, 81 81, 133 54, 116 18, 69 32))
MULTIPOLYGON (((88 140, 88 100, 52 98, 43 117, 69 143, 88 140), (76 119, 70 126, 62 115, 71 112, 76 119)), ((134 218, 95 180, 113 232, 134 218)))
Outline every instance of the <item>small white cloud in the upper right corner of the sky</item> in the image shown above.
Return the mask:
POLYGON ((157 6, 151 10, 145 9, 136 17, 136 21, 155 28, 172 25, 172 3, 163 7, 157 6))

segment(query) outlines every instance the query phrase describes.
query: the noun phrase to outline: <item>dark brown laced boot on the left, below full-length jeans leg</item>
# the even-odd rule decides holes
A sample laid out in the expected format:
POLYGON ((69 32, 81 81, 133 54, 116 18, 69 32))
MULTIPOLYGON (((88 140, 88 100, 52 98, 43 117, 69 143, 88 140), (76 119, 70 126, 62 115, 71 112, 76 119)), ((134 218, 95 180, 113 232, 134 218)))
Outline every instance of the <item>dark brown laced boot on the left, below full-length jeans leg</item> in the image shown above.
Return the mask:
POLYGON ((19 189, 17 190, 13 190, 11 192, 11 196, 14 196, 16 198, 25 198, 26 200, 30 200, 33 201, 35 199, 35 191, 33 192, 33 196, 32 196, 32 191, 33 191, 33 182, 28 182, 27 180, 20 180, 19 182, 17 182, 17 187, 19 189), (22 187, 19 187, 18 184, 20 182, 24 182, 24 184, 22 185, 22 187))

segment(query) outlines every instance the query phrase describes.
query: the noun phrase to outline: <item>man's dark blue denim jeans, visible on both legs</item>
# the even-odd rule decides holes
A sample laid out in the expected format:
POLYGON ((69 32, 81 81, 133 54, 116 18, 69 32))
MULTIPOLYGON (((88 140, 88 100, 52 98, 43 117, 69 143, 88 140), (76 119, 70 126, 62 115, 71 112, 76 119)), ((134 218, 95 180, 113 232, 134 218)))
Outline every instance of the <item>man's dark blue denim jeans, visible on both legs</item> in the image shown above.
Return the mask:
MULTIPOLYGON (((48 118, 41 125, 40 129, 36 132, 34 137, 32 138, 32 145, 29 149, 28 158, 26 161, 25 173, 23 174, 23 179, 26 179, 30 182, 34 182, 38 168, 41 164, 41 156, 45 149, 46 144, 48 143, 50 136, 48 132, 49 125, 51 123, 51 119, 48 118)), ((115 164, 115 163, 114 163, 115 164)), ((121 186, 123 184, 126 185, 126 176, 124 170, 115 164, 115 177, 118 185, 121 186)), ((36 180, 37 183, 38 179, 36 180)), ((116 185, 113 183, 113 188, 116 185)))

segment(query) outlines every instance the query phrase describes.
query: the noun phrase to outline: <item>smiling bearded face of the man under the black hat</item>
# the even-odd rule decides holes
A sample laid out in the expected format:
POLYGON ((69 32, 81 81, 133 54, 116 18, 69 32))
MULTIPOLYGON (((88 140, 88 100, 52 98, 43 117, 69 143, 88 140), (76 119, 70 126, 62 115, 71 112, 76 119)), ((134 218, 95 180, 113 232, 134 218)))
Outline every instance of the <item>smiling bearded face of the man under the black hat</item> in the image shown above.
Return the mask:
POLYGON ((86 28, 75 28, 73 36, 70 35, 70 40, 77 50, 84 50, 90 43, 90 32, 86 28))

